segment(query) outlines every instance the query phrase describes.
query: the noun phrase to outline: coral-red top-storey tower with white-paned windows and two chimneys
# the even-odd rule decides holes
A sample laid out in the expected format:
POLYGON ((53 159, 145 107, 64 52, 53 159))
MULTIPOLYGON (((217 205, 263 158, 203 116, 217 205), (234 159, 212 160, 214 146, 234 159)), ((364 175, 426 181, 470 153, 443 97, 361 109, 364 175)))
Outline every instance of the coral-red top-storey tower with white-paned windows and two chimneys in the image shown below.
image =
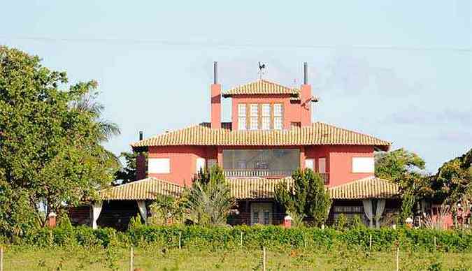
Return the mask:
POLYGON ((238 131, 287 130, 311 126, 312 103, 317 99, 308 85, 308 66, 303 65, 303 85, 299 89, 257 80, 221 91, 214 63, 211 85, 211 128, 221 127, 221 96, 232 98, 231 126, 238 131))

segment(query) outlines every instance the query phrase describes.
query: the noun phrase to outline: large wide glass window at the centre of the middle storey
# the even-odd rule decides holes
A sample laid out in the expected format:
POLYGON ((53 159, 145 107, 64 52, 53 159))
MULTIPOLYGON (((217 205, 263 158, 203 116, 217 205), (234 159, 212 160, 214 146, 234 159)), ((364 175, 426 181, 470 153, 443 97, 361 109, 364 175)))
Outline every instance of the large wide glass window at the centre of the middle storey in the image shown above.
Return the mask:
POLYGON ((224 170, 290 173, 300 166, 299 149, 224 149, 224 170))

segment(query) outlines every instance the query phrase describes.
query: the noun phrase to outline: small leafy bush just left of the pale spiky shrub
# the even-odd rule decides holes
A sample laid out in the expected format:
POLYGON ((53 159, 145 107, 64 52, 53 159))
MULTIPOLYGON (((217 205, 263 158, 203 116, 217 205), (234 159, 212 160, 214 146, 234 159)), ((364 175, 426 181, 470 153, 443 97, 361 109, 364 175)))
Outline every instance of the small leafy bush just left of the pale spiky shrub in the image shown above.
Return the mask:
POLYGON ((150 210, 150 225, 164 226, 167 219, 171 219, 173 224, 183 224, 186 214, 185 198, 157 196, 155 202, 150 205, 150 210))

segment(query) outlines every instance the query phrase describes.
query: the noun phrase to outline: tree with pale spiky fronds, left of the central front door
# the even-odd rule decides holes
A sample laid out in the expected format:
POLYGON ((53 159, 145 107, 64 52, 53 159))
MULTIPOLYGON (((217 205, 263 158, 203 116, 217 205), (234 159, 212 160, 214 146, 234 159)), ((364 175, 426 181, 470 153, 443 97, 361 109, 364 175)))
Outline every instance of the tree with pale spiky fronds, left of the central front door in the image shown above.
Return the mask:
POLYGON ((190 189, 185 192, 185 198, 189 219, 204 226, 226 224, 229 211, 235 205, 219 166, 200 170, 190 189))

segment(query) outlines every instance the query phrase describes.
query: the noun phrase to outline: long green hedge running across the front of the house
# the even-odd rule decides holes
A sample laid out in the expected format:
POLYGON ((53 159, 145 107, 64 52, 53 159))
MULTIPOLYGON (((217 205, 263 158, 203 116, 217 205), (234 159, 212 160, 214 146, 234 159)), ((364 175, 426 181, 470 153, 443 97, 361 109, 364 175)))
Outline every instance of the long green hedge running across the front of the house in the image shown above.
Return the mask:
POLYGON ((413 251, 434 251, 436 237, 437 251, 472 251, 470 230, 428 230, 409 228, 282 228, 280 226, 139 226, 120 233, 112 228, 93 230, 87 226, 67 228, 41 228, 26 235, 21 242, 34 246, 63 246, 78 244, 107 247, 110 242, 122 245, 155 244, 160 247, 176 248, 181 237, 181 246, 188 249, 236 249, 241 247, 241 233, 245 249, 320 249, 334 246, 387 251, 396 246, 413 251))

